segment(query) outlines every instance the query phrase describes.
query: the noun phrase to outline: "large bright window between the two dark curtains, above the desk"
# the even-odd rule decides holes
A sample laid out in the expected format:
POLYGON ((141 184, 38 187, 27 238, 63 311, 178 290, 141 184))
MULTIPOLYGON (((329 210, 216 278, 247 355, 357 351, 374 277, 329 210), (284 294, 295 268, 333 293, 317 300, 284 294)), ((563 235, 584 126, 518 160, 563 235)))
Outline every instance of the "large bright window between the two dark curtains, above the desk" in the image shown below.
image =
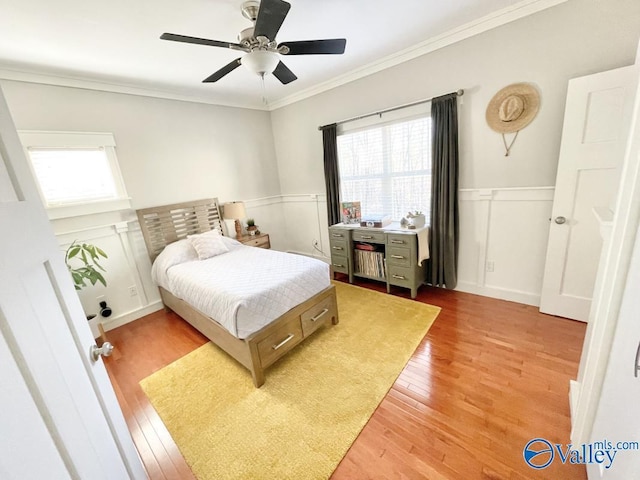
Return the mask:
POLYGON ((338 136, 341 201, 360 201, 362 216, 399 220, 419 210, 429 221, 431 117, 405 119, 338 136))

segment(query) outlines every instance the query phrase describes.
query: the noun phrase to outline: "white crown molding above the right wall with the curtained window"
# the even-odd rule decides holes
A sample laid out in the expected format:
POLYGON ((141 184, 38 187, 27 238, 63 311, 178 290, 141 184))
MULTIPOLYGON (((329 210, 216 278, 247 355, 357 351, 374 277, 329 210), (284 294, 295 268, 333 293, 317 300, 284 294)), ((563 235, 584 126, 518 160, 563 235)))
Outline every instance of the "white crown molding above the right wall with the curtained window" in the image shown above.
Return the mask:
POLYGON ((409 60, 413 60, 414 58, 426 55, 449 45, 453 45, 454 43, 466 40, 467 38, 479 35, 502 25, 506 25, 507 23, 519 20, 529 15, 533 15, 534 13, 555 7, 556 5, 566 3, 567 1, 568 0, 523 0, 515 5, 503 8, 502 10, 493 12, 478 20, 466 23, 436 37, 432 37, 413 47, 409 47, 376 62, 351 70, 350 72, 335 77, 327 82, 320 83, 311 88, 294 93, 293 95, 271 102, 269 103, 269 110, 277 110, 278 108, 313 97, 314 95, 318 95, 346 83, 353 82, 354 80, 358 80, 409 60))

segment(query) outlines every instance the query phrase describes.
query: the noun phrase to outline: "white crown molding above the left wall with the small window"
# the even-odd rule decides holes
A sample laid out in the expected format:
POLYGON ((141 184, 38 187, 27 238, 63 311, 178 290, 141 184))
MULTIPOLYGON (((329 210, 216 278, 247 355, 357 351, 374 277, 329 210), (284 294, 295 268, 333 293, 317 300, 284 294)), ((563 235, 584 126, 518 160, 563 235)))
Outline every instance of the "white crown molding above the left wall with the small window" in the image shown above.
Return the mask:
POLYGON ((141 87, 136 85, 104 82, 100 80, 74 77, 71 75, 39 73, 7 67, 0 67, 0 80, 14 80, 18 82, 53 85, 56 87, 71 87, 84 90, 96 90, 101 92, 124 93, 127 95, 162 98, 166 100, 179 100, 182 102, 204 103, 222 107, 247 108, 251 110, 263 111, 268 110, 264 105, 256 106, 251 102, 233 102, 199 95, 171 92, 167 90, 156 90, 153 88, 141 87))

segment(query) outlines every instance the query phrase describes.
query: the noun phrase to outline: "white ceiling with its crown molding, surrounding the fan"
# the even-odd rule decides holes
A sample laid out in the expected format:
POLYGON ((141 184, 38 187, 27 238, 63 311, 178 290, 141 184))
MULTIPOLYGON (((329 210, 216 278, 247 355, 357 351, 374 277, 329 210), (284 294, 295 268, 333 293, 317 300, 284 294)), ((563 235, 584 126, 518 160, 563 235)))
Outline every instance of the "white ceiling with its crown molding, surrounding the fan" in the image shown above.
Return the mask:
MULTIPOLYGON (((344 55, 285 57, 298 80, 266 78, 270 104, 353 78, 443 34, 503 23, 565 0, 289 0, 278 41, 346 38, 344 55), (509 16, 511 15, 511 17, 509 16), (507 20, 504 20, 507 21, 507 20)), ((160 40, 163 32, 237 41, 242 0, 0 0, 0 78, 266 108, 244 67, 201 83, 243 55, 160 40), (138 90, 142 89, 142 90, 138 90), (144 91, 143 91, 144 90, 144 91)), ((487 27, 489 28, 489 27, 487 27)), ((486 28, 485 28, 486 29, 486 28)))

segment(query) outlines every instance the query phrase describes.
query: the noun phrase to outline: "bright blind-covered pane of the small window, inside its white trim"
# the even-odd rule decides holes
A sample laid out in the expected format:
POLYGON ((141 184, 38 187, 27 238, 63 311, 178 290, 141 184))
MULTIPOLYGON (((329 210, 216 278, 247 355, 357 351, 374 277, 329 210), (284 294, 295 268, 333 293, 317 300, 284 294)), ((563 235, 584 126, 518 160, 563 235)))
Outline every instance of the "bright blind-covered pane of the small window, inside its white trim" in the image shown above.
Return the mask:
POLYGON ((48 206, 118 197, 104 149, 30 148, 28 152, 48 206))

